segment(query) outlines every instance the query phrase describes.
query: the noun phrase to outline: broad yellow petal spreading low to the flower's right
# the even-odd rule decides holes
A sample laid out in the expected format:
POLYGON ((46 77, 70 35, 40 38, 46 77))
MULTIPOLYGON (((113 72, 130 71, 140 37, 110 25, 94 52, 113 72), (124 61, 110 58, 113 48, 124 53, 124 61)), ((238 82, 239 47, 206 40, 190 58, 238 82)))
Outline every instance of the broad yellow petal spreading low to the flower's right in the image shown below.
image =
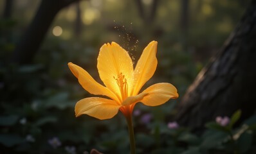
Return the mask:
POLYGON ((157 106, 167 102, 170 98, 178 98, 176 87, 170 83, 156 83, 145 89, 142 93, 147 93, 142 99, 142 103, 147 106, 157 106))

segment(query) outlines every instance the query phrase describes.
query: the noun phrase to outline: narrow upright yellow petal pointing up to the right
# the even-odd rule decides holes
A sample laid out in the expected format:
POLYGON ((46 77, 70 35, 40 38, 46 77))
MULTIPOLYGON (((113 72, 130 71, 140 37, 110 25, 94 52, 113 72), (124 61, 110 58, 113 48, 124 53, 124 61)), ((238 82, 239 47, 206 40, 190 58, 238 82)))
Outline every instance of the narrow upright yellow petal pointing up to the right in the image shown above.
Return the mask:
POLYGON ((138 94, 142 86, 153 76, 158 60, 156 59, 158 42, 152 41, 143 50, 142 56, 134 69, 134 83, 132 96, 138 94))

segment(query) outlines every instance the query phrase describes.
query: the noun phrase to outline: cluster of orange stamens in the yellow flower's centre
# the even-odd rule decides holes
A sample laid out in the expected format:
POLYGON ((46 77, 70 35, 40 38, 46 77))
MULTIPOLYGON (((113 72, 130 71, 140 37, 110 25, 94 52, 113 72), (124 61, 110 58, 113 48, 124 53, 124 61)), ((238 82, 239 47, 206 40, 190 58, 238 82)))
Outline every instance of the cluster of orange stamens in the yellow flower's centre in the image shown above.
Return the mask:
POLYGON ((127 92, 128 92, 128 85, 125 76, 120 73, 118 74, 117 78, 114 77, 114 80, 116 80, 116 83, 120 89, 122 100, 127 98, 127 92))

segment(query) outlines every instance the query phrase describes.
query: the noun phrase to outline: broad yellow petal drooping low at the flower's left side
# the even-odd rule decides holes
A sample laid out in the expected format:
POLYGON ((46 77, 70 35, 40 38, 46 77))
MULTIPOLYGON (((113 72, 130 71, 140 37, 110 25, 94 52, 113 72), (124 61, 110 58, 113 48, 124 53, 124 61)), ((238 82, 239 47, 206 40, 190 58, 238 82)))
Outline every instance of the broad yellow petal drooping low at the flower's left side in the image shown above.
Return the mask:
POLYGON ((87 114, 98 119, 110 119, 114 117, 120 105, 111 99, 105 98, 84 98, 75 105, 75 116, 87 114))

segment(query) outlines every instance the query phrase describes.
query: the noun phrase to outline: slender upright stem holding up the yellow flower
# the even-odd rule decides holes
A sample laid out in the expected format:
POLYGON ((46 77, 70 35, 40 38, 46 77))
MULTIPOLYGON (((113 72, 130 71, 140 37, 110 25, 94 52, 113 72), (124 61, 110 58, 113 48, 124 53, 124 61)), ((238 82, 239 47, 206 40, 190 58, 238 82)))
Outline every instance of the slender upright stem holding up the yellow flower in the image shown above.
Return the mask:
POLYGON ((128 125, 128 130, 129 130, 129 139, 130 139, 130 149, 131 149, 131 154, 135 154, 135 138, 134 138, 134 130, 133 130, 133 118, 132 114, 128 114, 125 116, 127 125, 128 125))

